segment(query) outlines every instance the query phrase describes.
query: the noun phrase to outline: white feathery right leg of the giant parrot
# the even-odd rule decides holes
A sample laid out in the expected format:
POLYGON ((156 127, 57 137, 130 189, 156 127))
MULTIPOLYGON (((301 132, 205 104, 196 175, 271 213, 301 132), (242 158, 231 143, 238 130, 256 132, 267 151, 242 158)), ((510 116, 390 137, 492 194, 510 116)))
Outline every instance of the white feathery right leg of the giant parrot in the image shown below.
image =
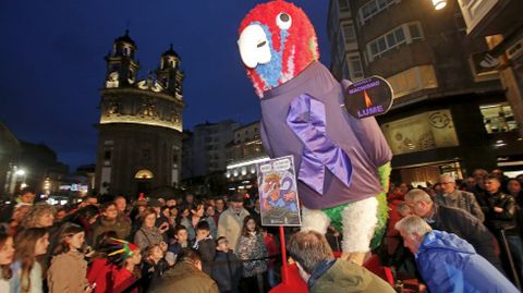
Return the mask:
POLYGON ((351 203, 341 212, 343 225, 344 253, 366 253, 370 251, 369 244, 374 235, 374 229, 378 223, 378 200, 369 197, 351 203))

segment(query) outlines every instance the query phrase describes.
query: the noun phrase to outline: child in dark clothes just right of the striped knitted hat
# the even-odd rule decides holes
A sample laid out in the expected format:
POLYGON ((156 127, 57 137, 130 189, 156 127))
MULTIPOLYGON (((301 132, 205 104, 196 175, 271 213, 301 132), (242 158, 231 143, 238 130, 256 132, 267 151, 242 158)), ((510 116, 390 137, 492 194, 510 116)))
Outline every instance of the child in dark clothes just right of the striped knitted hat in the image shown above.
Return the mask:
POLYGON ((160 244, 147 247, 145 260, 142 266, 142 290, 147 292, 149 285, 159 280, 163 272, 169 269, 169 263, 163 258, 163 249, 160 244))

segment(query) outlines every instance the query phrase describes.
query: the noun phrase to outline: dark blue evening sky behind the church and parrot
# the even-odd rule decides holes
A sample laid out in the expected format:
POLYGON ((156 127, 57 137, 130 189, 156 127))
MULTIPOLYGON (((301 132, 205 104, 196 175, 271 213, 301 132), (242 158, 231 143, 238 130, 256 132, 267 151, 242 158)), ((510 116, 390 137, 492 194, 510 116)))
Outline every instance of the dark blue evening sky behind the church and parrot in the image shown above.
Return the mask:
MULTIPOLYGON (((104 56, 126 27, 141 77, 173 44, 185 71, 184 127, 259 119, 236 49, 252 0, 3 1, 0 9, 0 121, 20 139, 45 143, 71 171, 96 158, 104 56)), ((309 15, 330 64, 327 0, 293 1, 309 15)))

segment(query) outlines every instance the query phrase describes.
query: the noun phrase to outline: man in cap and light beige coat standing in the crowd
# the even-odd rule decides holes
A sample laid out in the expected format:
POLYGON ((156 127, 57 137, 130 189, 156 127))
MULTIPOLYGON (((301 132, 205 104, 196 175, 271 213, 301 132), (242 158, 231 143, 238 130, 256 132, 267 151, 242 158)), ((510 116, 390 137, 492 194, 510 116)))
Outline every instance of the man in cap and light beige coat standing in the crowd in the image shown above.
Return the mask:
POLYGON ((243 196, 231 196, 231 206, 220 215, 218 220, 218 237, 226 237, 231 243, 231 249, 238 252, 238 243, 243 228, 243 219, 250 213, 243 208, 243 196))

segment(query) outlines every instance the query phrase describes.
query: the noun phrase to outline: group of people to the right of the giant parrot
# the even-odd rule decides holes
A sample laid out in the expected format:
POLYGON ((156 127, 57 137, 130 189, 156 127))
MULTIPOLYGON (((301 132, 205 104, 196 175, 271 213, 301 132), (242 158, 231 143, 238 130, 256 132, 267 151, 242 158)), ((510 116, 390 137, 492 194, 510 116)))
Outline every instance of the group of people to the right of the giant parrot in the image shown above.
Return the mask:
POLYGON ((523 175, 477 169, 465 180, 442 174, 425 187, 392 186, 384 259, 430 292, 519 292, 522 184, 523 175))

